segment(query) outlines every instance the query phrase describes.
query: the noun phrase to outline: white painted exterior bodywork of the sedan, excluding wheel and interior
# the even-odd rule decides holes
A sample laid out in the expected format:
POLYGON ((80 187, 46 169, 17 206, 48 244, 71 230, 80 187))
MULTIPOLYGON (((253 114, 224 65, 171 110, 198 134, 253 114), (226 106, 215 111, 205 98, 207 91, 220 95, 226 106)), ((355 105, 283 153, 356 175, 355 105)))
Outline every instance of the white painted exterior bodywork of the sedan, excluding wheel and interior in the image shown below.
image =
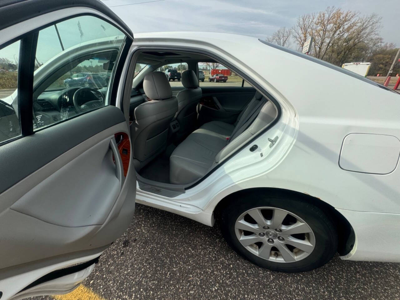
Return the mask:
MULTIPOLYGON (((93 14, 116 24, 92 8, 64 8, 0 30, 0 44, 76 14, 93 14)), ((130 57, 136 50, 149 47, 193 49, 221 58, 246 74, 261 92, 267 91, 275 98, 281 114, 272 128, 252 141, 258 145, 256 151, 243 148, 198 184, 173 198, 140 190, 137 184, 138 203, 212 226, 217 204, 234 192, 250 188, 296 191, 329 204, 351 224, 355 244, 343 259, 400 262, 400 232, 396 230, 400 226, 398 94, 267 46, 256 38, 207 32, 162 32, 134 35, 117 97, 124 88, 130 57), (354 133, 368 134, 366 139, 354 136, 355 145, 350 141, 354 146, 350 151, 347 151, 348 140, 344 148, 346 161, 343 163, 356 172, 344 170, 339 163, 343 142, 354 133), (268 139, 275 137, 278 139, 272 144, 268 139), (349 158, 354 159, 355 166, 348 163, 349 158)), ((2 299, 29 296, 18 292, 53 270, 96 255, 0 278, 0 286, 12 282, 2 299)), ((76 282, 86 278, 91 270, 82 272, 75 278, 76 282)), ((68 281, 73 289, 72 283, 68 281)), ((52 288, 44 286, 42 290, 52 288)), ((40 292, 39 288, 32 294, 40 292)))

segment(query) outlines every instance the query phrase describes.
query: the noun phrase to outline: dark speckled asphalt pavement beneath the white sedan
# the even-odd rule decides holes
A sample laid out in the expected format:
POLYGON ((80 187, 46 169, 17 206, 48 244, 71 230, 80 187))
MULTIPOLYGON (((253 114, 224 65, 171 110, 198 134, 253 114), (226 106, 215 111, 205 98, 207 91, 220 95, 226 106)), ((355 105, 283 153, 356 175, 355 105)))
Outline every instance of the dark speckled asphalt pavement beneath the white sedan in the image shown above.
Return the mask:
POLYGON ((394 300, 400 264, 336 256, 310 272, 272 272, 231 250, 218 225, 137 204, 130 228, 101 256, 80 293, 57 299, 394 300), (81 295, 88 290, 97 298, 81 295))

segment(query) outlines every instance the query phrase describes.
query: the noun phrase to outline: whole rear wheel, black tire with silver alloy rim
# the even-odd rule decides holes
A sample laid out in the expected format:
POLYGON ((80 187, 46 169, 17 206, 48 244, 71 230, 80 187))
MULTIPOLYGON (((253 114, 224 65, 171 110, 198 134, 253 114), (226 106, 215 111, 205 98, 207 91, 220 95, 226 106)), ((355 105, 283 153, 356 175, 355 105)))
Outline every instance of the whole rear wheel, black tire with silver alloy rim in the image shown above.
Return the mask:
MULTIPOLYGON (((259 222, 264 221, 259 219, 259 222)), ((298 198, 298 196, 283 196, 274 193, 267 196, 260 193, 247 192, 229 202, 229 206, 226 206, 221 213, 220 225, 222 235, 226 242, 228 242, 240 256, 250 260, 257 266, 274 271, 305 272, 319 268, 332 259, 338 248, 338 236, 332 219, 320 208, 306 200, 298 198), (264 236, 260 238, 260 233, 243 231, 238 228, 243 228, 243 223, 245 224, 244 228, 248 228, 247 221, 254 224, 254 219, 249 219, 250 215, 247 212, 250 212, 253 216, 259 216, 259 214, 254 214, 254 212, 262 212, 264 219, 268 219, 268 216, 272 216, 272 212, 274 211, 278 212, 275 213, 277 216, 286 213, 289 214, 289 216, 285 217, 283 220, 283 225, 286 223, 286 225, 301 224, 304 226, 304 224, 302 224, 304 222, 306 226, 308 226, 308 229, 305 231, 310 229, 311 231, 305 234, 294 234, 294 236, 298 238, 295 239, 292 235, 284 234, 284 231, 279 233, 273 230, 275 228, 266 228, 268 230, 264 230, 260 226, 254 225, 257 226, 257 230, 261 230, 258 232, 265 232, 264 236), (297 219, 296 222, 300 223, 293 223, 295 220, 293 218, 297 219), (244 244, 247 244, 246 236, 252 238, 251 241, 260 239, 262 242, 244 246, 239 241, 239 238, 242 239, 244 244), (278 240, 279 238, 284 238, 283 242, 280 242, 280 240, 278 240), (306 249, 307 252, 295 248, 292 245, 289 245, 289 247, 293 247, 292 250, 290 250, 288 244, 286 244, 286 242, 289 243, 289 241, 293 244, 293 241, 299 241, 299 239, 303 240, 300 241, 301 244, 298 244, 299 247, 306 249), (307 245, 304 246, 304 243, 307 245), (263 255, 268 258, 263 258, 261 257, 262 255, 259 256, 260 252, 261 254, 263 253, 261 251, 264 249, 263 246, 268 246, 265 248, 266 250, 263 255), (284 251, 280 252, 278 247, 284 251), (287 260, 284 259, 282 253, 285 253, 285 257, 288 258, 287 260)), ((304 226, 304 228, 306 226, 304 226)), ((285 230, 285 227, 282 229, 285 230)))

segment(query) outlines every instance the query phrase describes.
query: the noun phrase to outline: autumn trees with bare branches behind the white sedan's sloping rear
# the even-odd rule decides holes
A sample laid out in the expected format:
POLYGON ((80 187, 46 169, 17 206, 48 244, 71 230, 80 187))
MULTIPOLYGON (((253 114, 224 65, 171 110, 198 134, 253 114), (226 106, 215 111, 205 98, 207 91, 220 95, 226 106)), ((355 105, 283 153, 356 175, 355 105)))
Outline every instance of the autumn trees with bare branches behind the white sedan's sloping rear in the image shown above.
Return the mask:
MULTIPOLYGON (((397 48, 393 43, 384 43, 380 36, 381 20, 375 13, 362 16, 359 12, 332 6, 299 16, 294 26, 279 28, 267 41, 301 51, 312 37, 310 55, 337 66, 346 62, 371 62, 368 75, 386 75, 397 48)), ((400 73, 399 63, 393 73, 400 73)))

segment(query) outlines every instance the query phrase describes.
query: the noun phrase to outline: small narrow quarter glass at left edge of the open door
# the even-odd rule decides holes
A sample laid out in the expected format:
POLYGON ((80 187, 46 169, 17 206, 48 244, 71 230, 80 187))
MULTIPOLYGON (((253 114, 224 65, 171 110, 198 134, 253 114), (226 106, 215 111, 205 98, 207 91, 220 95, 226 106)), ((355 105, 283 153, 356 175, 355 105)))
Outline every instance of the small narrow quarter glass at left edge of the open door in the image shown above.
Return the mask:
POLYGON ((16 104, 19 51, 20 41, 0 49, 0 143, 21 135, 16 104))

